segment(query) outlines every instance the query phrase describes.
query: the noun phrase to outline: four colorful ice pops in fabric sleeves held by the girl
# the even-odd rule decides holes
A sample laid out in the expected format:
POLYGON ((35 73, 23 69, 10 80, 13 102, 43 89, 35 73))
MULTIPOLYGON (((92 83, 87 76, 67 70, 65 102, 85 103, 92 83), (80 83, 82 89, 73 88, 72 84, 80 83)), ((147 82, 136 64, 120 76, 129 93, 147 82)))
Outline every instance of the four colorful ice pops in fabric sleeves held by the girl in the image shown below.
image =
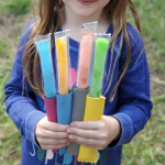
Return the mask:
MULTIPOLYGON (((98 22, 82 24, 75 89, 69 85, 73 79, 69 72, 70 30, 54 34, 56 75, 53 69, 51 34, 34 38, 41 59, 46 113, 52 122, 70 124, 73 121, 97 121, 102 117, 106 99, 101 96, 101 88, 111 35, 96 33, 97 26, 98 22)), ((76 142, 59 148, 59 154, 78 155, 79 162, 97 163, 98 158, 98 150, 76 142)))

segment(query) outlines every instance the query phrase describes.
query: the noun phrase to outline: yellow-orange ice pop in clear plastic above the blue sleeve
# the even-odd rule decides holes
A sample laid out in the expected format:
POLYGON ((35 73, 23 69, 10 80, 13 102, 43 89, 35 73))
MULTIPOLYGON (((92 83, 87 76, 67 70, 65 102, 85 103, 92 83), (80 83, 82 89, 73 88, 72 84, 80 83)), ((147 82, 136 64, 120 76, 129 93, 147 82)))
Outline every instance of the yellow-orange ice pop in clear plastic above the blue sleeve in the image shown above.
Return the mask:
POLYGON ((68 94, 68 62, 67 62, 67 38, 56 40, 56 54, 58 67, 58 91, 59 95, 68 94))

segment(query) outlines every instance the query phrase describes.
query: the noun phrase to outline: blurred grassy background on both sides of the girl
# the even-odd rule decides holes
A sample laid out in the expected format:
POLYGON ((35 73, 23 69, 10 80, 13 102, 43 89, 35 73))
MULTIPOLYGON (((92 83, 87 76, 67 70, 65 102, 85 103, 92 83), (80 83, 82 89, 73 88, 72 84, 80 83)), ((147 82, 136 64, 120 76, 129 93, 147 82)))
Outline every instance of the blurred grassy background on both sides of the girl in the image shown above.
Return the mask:
MULTIPOLYGON (((122 165, 165 164, 165 0, 133 0, 151 70, 153 114, 145 129, 123 145, 122 165)), ((18 42, 33 19, 36 0, 0 0, 0 165, 20 165, 21 135, 6 113, 3 88, 10 78, 18 42)), ((37 13, 37 12, 36 12, 37 13)), ((129 19, 132 22, 131 19, 129 19)))

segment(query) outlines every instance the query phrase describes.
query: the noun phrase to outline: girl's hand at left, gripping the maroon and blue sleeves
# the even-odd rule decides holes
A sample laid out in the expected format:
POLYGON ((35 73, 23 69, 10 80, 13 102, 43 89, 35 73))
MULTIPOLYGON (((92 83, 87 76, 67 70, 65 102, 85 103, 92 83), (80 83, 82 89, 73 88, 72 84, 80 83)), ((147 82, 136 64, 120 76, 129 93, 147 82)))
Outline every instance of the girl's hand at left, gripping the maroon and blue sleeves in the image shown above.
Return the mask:
POLYGON ((35 127, 35 136, 43 150, 61 148, 69 145, 70 140, 66 130, 69 125, 50 122, 47 116, 42 118, 35 127))

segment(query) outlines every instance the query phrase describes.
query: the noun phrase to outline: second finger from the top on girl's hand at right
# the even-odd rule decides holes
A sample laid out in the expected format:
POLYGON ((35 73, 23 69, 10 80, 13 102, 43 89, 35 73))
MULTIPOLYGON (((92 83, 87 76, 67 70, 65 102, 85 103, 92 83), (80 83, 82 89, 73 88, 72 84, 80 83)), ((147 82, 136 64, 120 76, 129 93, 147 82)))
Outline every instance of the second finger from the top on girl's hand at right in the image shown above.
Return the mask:
POLYGON ((75 134, 77 136, 86 138, 86 139, 99 139, 99 134, 97 130, 82 130, 77 128, 67 129, 67 133, 75 134))

